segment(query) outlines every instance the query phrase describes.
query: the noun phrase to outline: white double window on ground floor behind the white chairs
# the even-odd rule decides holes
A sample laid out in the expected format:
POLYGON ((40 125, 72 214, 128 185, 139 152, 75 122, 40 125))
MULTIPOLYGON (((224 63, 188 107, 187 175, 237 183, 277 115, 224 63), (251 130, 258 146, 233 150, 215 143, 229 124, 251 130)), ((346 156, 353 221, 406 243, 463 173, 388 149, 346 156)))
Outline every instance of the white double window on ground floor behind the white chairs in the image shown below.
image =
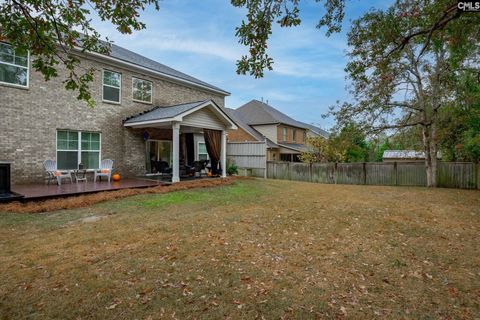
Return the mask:
POLYGON ((100 166, 100 133, 57 130, 57 168, 86 169, 100 166))

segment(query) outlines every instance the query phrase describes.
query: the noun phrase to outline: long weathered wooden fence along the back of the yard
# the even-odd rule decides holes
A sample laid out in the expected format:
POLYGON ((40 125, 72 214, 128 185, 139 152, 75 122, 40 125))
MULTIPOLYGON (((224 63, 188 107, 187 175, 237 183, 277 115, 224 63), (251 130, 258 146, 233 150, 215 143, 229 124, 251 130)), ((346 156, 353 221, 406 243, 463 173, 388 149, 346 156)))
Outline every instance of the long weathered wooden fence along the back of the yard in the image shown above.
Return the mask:
MULTIPOLYGON (((298 163, 267 162, 267 178, 318 183, 426 186, 421 162, 298 163)), ((438 186, 480 189, 480 164, 439 162, 438 186)))

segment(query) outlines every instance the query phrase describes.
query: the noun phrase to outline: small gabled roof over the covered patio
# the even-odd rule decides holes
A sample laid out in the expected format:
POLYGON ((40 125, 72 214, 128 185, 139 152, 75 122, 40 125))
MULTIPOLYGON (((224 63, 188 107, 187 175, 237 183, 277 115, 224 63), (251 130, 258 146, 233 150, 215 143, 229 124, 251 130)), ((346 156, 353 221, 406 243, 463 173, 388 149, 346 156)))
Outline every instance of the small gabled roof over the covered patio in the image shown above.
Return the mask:
POLYGON ((182 103, 173 106, 157 106, 153 109, 125 119, 123 124, 124 126, 129 127, 166 121, 182 121, 184 116, 207 106, 212 106, 217 111, 217 114, 219 114, 226 122, 228 122, 232 128, 236 128, 235 122, 212 100, 182 103))

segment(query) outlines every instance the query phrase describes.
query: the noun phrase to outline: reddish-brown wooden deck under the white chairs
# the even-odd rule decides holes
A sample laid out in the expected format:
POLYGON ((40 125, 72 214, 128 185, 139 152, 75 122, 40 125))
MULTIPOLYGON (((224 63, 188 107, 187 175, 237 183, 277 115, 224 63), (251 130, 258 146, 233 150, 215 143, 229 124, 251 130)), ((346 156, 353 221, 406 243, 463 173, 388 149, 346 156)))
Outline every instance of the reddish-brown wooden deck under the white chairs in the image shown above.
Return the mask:
POLYGON ((12 186, 12 191, 22 194, 21 200, 42 200, 50 198, 59 198, 65 196, 75 196, 86 193, 95 193, 101 191, 113 191, 129 188, 148 188, 158 185, 165 185, 162 181, 147 179, 123 179, 121 181, 97 181, 97 182, 78 182, 62 183, 61 186, 55 184, 25 184, 12 186))

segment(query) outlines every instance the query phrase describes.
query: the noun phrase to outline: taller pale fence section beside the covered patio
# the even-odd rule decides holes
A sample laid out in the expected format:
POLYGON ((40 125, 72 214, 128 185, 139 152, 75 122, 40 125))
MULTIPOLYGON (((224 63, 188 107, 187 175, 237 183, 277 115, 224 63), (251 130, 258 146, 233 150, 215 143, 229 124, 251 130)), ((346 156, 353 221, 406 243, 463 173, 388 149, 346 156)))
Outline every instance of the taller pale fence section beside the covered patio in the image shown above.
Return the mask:
POLYGON ((239 174, 266 178, 267 145, 265 142, 229 142, 227 160, 235 163, 239 174))

